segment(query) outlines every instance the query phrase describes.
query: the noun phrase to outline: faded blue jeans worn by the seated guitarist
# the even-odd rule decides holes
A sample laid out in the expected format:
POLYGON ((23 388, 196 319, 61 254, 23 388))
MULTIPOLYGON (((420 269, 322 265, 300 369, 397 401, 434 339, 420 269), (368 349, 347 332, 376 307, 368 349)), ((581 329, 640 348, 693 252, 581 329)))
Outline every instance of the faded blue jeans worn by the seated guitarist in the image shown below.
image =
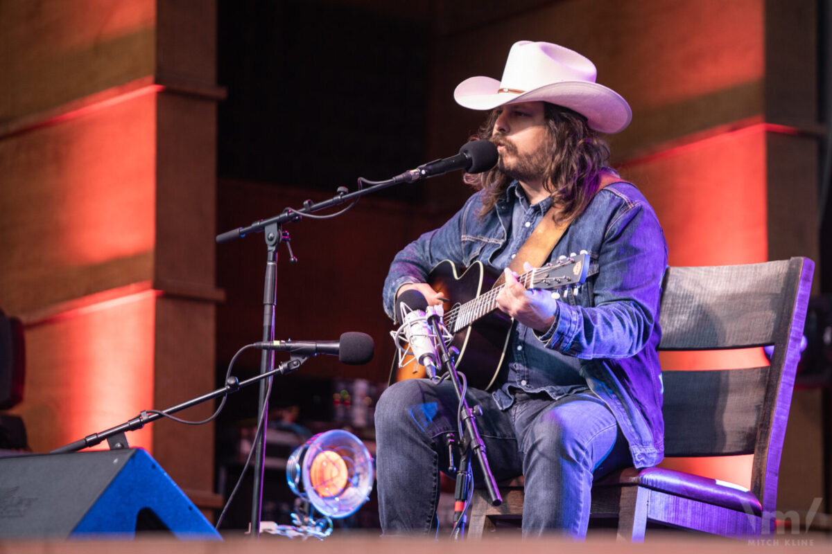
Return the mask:
MULTIPOLYGON (((477 426, 498 480, 526 478, 523 536, 559 531, 584 537, 592 478, 632 463, 616 419, 591 393, 551 400, 518 392, 505 411, 491 395, 468 390, 479 404, 477 426)), ((439 495, 439 471, 448 467, 443 435, 457 434, 453 385, 404 380, 384 391, 375 412, 379 517, 385 535, 427 533, 439 495)), ((482 483, 472 460, 475 483, 482 483)))

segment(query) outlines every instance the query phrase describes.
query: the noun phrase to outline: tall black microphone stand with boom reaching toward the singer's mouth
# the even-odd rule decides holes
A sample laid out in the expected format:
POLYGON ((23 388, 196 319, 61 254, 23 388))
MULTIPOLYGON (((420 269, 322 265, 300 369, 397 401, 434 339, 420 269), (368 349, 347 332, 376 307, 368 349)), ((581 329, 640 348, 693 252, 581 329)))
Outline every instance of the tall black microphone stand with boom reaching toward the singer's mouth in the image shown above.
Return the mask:
MULTIPOLYGON (((277 304, 277 247, 280 243, 289 246, 289 233, 283 231, 283 224, 290 221, 300 221, 307 213, 314 213, 322 209, 331 208, 339 204, 349 202, 352 199, 358 200, 364 194, 374 193, 377 190, 386 189, 394 184, 412 182, 422 177, 433 175, 420 175, 416 169, 407 174, 401 174, 393 179, 387 179, 374 184, 367 189, 359 189, 352 193, 346 187, 339 187, 338 194, 333 198, 319 203, 312 203, 307 200, 304 207, 300 209, 285 208, 283 213, 273 218, 260 219, 251 223, 248 227, 240 227, 220 233, 216 236, 217 243, 228 243, 236 238, 245 237, 250 233, 264 233, 266 243, 266 264, 263 291, 263 341, 275 340, 275 306, 277 304)), ((289 247, 290 260, 297 261, 289 247)), ((272 351, 265 350, 260 356, 260 375, 273 374, 275 369, 275 356, 272 351)), ((260 381, 260 399, 258 401, 258 413, 264 414, 264 428, 268 423, 267 410, 269 407, 268 382, 260 381)), ((255 448, 254 459, 254 484, 251 493, 251 537, 260 537, 260 513, 263 505, 263 478, 265 469, 265 433, 253 445, 255 448)))

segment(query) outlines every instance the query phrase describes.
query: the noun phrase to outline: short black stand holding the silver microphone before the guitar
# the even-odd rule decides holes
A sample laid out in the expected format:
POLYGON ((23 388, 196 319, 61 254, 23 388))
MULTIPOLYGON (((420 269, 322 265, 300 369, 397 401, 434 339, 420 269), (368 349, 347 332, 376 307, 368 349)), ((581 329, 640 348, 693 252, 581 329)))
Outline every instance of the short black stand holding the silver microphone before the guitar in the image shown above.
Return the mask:
POLYGON ((428 323, 433 329, 433 336, 440 337, 438 343, 439 359, 442 360, 442 366, 448 372, 454 390, 457 391, 457 397, 460 404, 462 404, 462 420, 463 420, 463 436, 460 437, 459 451, 460 458, 457 469, 457 483, 454 493, 454 509, 453 522, 455 524, 454 538, 463 538, 465 536, 465 507, 468 503, 468 491, 470 484, 473 481, 471 473, 471 454, 477 458, 479 468, 483 472, 483 479, 485 480, 485 488, 488 489, 488 498, 491 500, 492 506, 499 506, 503 503, 503 498, 497 488, 497 481, 494 479, 491 468, 488 465, 488 458, 485 455, 485 443, 479 435, 477 429, 476 415, 482 415, 483 411, 479 406, 474 409, 468 407, 468 400, 465 400, 463 395, 462 385, 459 382, 459 375, 457 374, 456 365, 453 363, 453 358, 445 346, 445 341, 442 340, 442 330, 439 325, 441 321, 439 316, 433 312, 428 316, 428 323))

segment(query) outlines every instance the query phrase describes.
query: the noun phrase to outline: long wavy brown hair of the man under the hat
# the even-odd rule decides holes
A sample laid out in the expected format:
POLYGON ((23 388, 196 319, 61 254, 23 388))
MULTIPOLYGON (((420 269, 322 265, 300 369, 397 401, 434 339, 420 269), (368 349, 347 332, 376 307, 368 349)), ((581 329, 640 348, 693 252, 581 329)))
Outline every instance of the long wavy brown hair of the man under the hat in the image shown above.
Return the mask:
MULTIPOLYGON (((589 128, 583 115, 548 102, 543 102, 543 108, 552 150, 543 186, 561 208, 558 218, 571 221, 587 208, 597 193, 602 170, 607 167, 610 158, 610 149, 607 140, 589 128)), ((491 139, 499 110, 491 111, 473 138, 491 139)), ((480 216, 493 210, 512 182, 498 167, 482 174, 465 174, 463 179, 483 191, 480 216)))

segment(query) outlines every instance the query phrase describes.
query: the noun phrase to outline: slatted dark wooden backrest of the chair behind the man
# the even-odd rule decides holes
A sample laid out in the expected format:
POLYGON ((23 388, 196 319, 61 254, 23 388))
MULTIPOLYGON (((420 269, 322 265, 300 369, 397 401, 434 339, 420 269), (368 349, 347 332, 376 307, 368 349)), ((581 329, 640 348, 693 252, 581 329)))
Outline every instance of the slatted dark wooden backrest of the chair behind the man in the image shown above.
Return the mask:
POLYGON ((662 373, 666 455, 754 453, 751 492, 764 510, 775 509, 814 270, 810 259, 793 257, 665 274, 660 350, 774 346, 766 367, 662 373))

